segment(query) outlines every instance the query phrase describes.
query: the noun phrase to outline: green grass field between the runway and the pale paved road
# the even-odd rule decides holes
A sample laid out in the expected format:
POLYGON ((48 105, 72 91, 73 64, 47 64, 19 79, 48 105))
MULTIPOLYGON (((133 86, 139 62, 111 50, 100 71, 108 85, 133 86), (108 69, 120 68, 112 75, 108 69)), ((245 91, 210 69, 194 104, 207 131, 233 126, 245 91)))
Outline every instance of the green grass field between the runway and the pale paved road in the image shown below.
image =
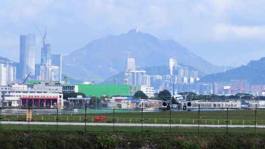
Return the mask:
MULTIPOLYGON (((105 115, 106 123, 112 123, 113 113, 90 114, 87 113, 87 122, 94 122, 94 116, 105 115)), ((25 115, 2 115, 3 121, 25 121, 25 115)), ((36 122, 56 122, 56 115, 32 114, 36 122)), ((172 112, 172 124, 197 124, 198 112, 182 111, 172 112)), ((59 114, 59 122, 84 122, 84 114, 59 114)), ((141 112, 115 113, 115 123, 141 123, 141 112)), ((144 112, 144 123, 168 124, 170 122, 170 112, 144 112)), ((201 124, 226 124, 226 111, 201 111, 201 124)), ((254 125, 255 110, 229 110, 228 124, 254 125)), ((257 110, 257 124, 265 125, 265 110, 257 110)))

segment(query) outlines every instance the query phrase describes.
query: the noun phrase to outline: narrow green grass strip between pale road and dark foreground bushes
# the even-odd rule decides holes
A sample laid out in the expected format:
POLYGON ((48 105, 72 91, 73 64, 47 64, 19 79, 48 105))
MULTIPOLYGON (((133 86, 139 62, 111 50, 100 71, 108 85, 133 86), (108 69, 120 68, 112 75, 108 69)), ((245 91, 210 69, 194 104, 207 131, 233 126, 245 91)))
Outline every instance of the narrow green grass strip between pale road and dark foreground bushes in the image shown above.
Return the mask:
MULTIPOLYGON (((27 124, 2 124, 2 130, 28 130, 27 124)), ((29 125, 29 130, 56 131, 56 125, 29 125)), ((79 125, 58 125, 59 131, 84 131, 84 126, 79 125)), ((113 126, 86 126, 87 132, 113 132, 113 126)), ((226 128, 200 127, 200 133, 225 133, 226 128)), ((114 126, 114 132, 142 132, 141 127, 114 126)), ((143 127, 144 133, 169 133, 169 127, 143 127)), ((172 133, 198 133, 198 127, 171 127, 172 133)), ((255 128, 228 128, 229 133, 254 133, 255 128)), ((265 133, 265 129, 257 128, 257 133, 265 133)))

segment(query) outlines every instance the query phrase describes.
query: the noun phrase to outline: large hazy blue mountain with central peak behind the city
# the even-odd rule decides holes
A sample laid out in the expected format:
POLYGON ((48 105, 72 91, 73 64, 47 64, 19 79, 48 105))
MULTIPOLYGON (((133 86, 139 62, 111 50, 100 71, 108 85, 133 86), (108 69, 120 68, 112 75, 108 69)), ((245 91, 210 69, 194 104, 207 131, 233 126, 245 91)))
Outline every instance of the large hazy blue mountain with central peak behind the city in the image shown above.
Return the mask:
POLYGON ((132 29, 118 36, 107 35, 89 42, 85 47, 63 57, 63 73, 76 79, 106 78, 126 68, 126 51, 141 67, 166 65, 173 57, 178 62, 205 73, 217 73, 224 67, 215 66, 193 54, 174 40, 157 37, 132 29))

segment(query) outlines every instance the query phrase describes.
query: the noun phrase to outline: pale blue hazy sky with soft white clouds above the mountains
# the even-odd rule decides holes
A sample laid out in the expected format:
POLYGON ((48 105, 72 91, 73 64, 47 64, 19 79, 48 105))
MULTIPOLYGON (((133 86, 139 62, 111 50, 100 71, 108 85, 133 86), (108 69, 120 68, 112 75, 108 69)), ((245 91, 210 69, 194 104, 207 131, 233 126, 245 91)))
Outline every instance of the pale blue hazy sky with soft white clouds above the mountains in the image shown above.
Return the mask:
POLYGON ((138 27, 174 39, 217 65, 265 56, 265 0, 0 0, 0 56, 19 60, 19 35, 44 32, 53 53, 69 54, 107 34, 138 27))

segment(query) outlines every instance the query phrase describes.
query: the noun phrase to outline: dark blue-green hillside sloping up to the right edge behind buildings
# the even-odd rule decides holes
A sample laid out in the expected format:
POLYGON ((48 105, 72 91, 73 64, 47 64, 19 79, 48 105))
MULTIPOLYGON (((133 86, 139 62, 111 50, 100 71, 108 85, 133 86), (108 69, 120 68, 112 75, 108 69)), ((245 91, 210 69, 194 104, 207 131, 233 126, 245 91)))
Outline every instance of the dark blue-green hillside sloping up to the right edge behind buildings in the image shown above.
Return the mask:
POLYGON ((231 79, 247 79, 252 84, 265 84, 265 57, 250 61, 245 66, 201 78, 201 82, 230 81, 231 79))

